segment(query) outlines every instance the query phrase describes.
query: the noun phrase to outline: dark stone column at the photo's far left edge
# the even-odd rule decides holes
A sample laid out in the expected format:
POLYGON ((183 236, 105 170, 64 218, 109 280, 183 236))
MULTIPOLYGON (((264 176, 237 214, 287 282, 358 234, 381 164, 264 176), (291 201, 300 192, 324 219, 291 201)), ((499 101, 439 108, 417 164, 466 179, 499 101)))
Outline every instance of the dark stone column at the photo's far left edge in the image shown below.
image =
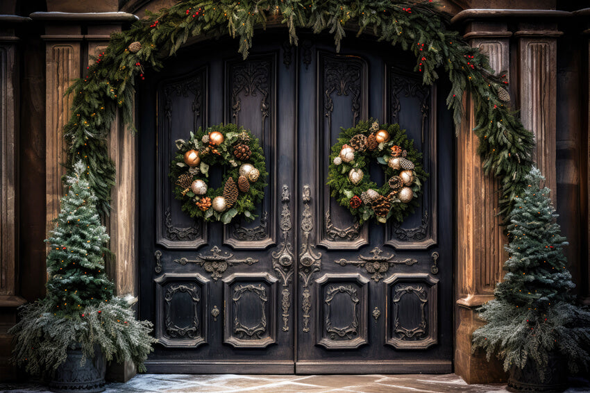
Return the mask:
POLYGON ((18 275, 19 56, 17 28, 31 19, 0 15, 0 381, 15 375, 8 329, 15 324, 18 275))

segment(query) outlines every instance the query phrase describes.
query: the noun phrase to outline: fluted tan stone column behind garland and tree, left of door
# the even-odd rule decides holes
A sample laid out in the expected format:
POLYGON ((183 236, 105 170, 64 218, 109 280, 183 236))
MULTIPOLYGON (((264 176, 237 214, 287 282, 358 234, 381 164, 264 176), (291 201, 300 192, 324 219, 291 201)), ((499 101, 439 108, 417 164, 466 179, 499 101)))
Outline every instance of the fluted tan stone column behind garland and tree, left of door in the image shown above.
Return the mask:
MULTIPOLYGON (((115 2, 116 3, 116 2, 115 2)), ((57 10, 57 9, 56 9, 57 10)), ((31 18, 44 22, 47 56, 47 225, 59 212, 62 196, 61 176, 65 161, 62 128, 71 116, 72 97, 64 92, 75 78, 85 76, 86 67, 107 46, 110 33, 137 20, 125 12, 33 12, 31 18)), ((112 189, 110 216, 106 226, 110 250, 115 257, 106 262, 106 271, 115 282, 117 296, 136 301, 137 294, 137 144, 134 135, 121 124, 119 116, 111 126, 109 149, 117 166, 117 181, 112 189)), ((111 381, 128 381, 136 373, 132 362, 112 365, 111 381)))

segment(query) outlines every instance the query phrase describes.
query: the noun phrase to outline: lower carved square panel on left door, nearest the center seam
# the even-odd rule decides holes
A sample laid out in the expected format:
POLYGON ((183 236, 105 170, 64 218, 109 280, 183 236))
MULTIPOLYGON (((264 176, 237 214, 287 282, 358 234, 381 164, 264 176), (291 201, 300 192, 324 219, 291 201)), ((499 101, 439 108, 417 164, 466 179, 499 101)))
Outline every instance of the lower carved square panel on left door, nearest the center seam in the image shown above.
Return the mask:
POLYGON ((276 342, 276 282, 268 273, 224 278, 224 342, 235 348, 265 348, 276 342))

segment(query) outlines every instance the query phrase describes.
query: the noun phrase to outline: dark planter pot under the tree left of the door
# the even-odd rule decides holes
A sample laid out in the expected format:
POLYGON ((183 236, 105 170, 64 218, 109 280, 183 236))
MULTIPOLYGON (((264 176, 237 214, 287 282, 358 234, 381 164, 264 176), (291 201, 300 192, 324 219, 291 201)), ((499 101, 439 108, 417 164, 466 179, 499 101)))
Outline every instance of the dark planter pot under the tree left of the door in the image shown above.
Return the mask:
POLYGON ((49 382, 51 392, 97 393, 105 390, 106 361, 100 346, 94 347, 94 358, 81 365, 82 349, 67 350, 67 359, 56 369, 49 382))

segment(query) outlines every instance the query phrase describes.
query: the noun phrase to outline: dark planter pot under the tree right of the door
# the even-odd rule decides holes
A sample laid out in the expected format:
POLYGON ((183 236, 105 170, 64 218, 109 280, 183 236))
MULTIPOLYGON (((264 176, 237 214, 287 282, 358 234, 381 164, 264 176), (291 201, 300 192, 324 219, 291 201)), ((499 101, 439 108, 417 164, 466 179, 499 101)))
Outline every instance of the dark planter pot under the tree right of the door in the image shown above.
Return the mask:
POLYGON ((563 392, 567 387, 567 362, 562 356, 550 355, 543 370, 543 382, 537 363, 527 359, 525 368, 512 366, 508 378, 509 392, 563 392))

